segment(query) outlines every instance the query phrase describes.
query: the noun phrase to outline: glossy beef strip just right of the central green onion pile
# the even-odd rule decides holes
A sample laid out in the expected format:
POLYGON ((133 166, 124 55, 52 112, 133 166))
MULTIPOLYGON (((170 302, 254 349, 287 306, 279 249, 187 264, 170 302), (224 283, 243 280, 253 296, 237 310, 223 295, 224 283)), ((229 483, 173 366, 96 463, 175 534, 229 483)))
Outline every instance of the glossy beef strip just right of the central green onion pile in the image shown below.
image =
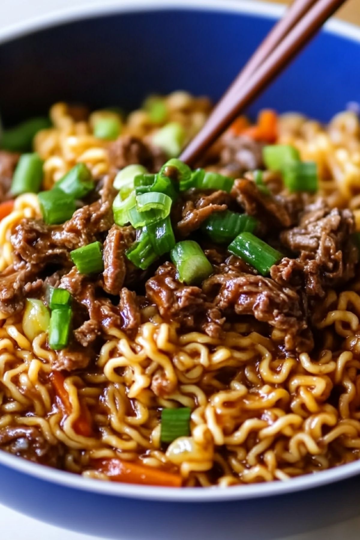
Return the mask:
POLYGON ((176 224, 176 231, 186 237, 196 231, 202 223, 214 212, 224 212, 231 201, 225 191, 209 193, 194 191, 180 202, 181 219, 176 224))

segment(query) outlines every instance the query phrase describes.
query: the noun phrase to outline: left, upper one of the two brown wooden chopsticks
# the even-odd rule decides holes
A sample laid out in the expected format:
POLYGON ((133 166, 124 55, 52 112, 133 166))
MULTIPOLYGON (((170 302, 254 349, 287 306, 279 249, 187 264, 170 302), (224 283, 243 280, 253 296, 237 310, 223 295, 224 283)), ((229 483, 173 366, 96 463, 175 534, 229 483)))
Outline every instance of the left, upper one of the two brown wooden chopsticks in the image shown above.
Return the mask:
POLYGON ((216 121, 219 111, 223 109, 225 104, 225 98, 228 98, 230 93, 237 92, 241 89, 242 85, 247 82, 250 76, 257 68, 259 68, 270 53, 273 52, 275 47, 287 36, 291 28, 294 28, 295 24, 300 21, 316 1, 317 0, 294 0, 288 8, 286 15, 273 26, 263 42, 255 50, 253 56, 250 57, 248 62, 244 65, 239 75, 237 75, 232 84, 230 84, 225 94, 221 97, 218 105, 214 107, 214 110, 207 119, 208 126, 213 125, 214 120, 216 121))

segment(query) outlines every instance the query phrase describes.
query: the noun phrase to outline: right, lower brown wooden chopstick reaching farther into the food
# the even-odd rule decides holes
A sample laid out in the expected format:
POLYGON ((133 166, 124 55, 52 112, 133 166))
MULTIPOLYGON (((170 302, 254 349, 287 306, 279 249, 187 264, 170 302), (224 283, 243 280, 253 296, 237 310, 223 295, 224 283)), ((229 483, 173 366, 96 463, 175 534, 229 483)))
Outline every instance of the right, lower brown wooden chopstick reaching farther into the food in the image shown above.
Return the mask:
MULTIPOLYGON (((221 99, 212 115, 212 122, 206 123, 191 143, 182 152, 180 159, 194 165, 201 154, 226 130, 235 117, 247 107, 291 62, 300 50, 314 37, 316 32, 345 0, 316 0, 287 35, 264 58, 246 82, 221 99)), ((257 54, 257 53, 256 53, 257 54)))

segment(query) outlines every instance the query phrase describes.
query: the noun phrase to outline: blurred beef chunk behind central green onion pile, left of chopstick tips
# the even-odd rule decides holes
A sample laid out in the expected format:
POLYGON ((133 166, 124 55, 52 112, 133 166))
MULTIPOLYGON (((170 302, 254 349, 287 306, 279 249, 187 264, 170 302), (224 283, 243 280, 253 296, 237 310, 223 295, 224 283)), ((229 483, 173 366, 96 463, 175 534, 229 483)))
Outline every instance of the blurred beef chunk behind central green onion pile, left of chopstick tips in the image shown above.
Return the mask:
POLYGON ((127 165, 144 165, 150 172, 158 172, 165 163, 166 156, 156 146, 150 146, 137 137, 126 136, 109 146, 109 159, 112 167, 122 169, 127 165))

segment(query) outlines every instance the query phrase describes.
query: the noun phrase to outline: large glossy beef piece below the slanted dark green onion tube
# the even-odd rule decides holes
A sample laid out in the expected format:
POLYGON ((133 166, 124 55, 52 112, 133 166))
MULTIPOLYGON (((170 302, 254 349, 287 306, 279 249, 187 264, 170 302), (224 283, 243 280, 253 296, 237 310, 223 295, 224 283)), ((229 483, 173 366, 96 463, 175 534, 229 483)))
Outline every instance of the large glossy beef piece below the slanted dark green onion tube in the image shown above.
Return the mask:
POLYGON ((307 328, 298 294, 272 279, 240 273, 217 274, 203 283, 202 290, 223 314, 253 315, 282 330, 289 350, 298 346, 297 336, 307 328))

